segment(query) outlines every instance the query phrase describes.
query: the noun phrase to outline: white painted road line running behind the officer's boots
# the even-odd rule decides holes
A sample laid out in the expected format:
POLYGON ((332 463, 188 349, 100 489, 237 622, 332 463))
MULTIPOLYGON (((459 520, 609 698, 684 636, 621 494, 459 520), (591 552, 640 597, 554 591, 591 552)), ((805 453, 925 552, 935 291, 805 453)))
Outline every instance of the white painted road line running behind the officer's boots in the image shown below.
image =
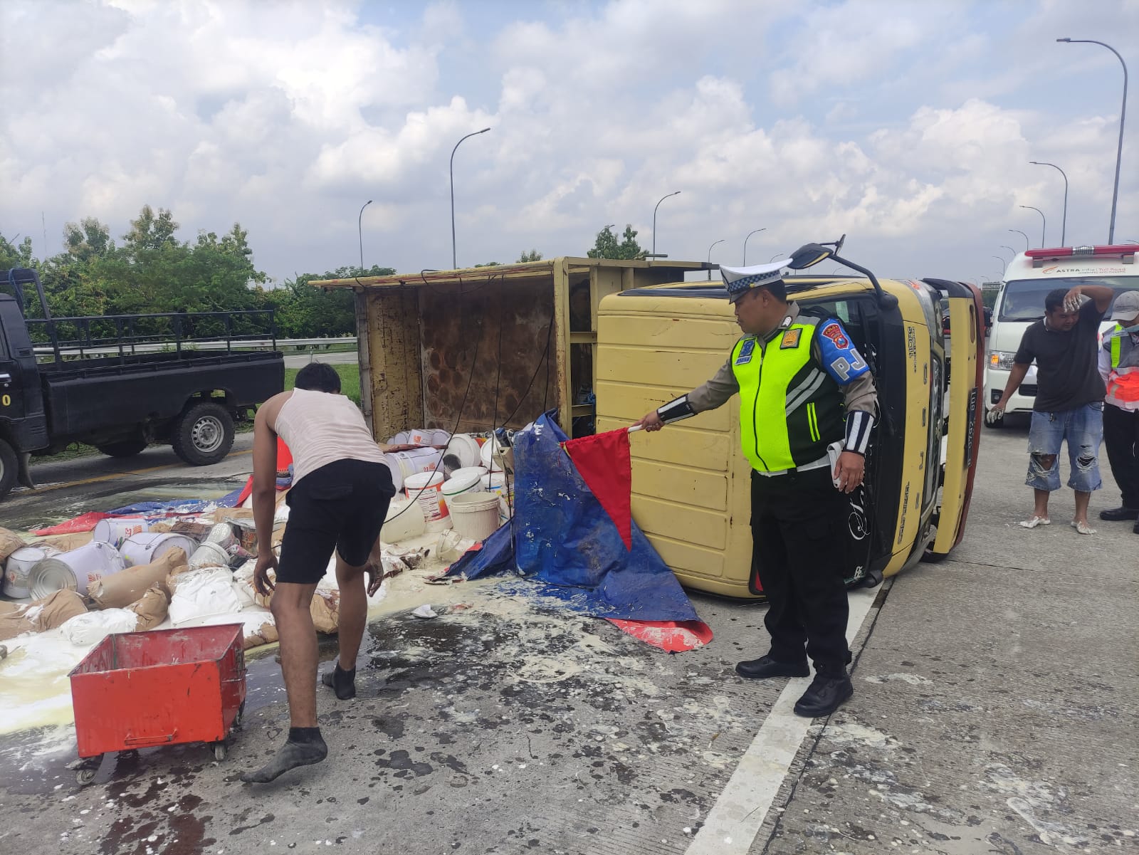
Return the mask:
MULTIPOLYGON (((851 591, 847 639, 858 635, 877 593, 878 589, 851 591)), ((810 677, 787 682, 686 855, 746 855, 752 848, 813 721, 794 713, 795 701, 810 684, 810 677)))

